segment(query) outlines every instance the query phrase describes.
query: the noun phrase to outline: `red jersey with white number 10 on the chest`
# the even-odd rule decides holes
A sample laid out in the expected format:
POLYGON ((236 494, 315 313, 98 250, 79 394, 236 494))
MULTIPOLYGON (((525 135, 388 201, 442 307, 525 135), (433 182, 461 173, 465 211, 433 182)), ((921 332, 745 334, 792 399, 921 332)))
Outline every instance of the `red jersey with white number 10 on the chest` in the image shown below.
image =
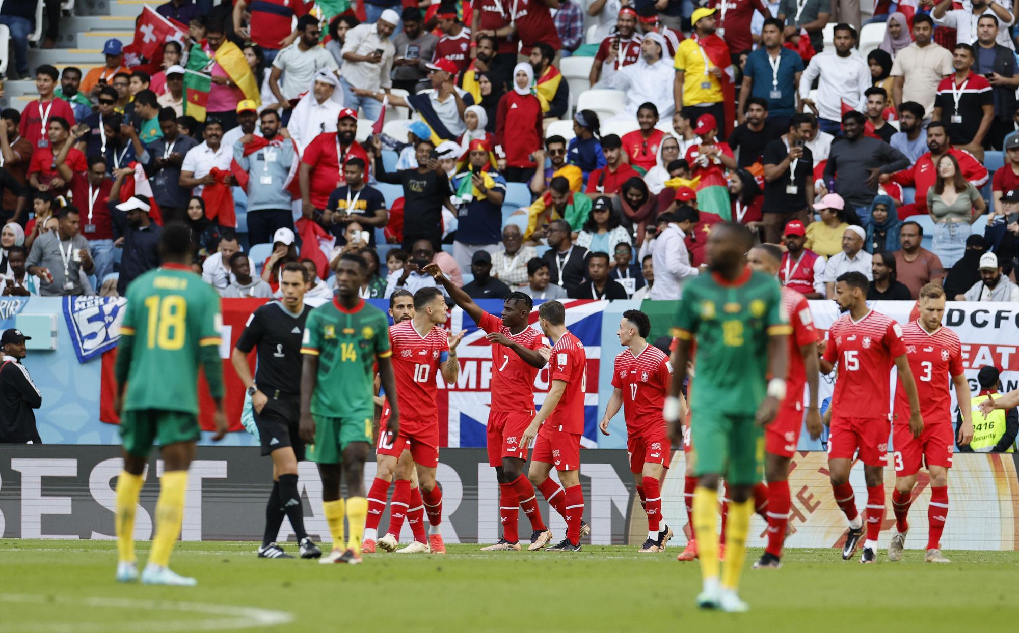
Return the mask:
POLYGON ((414 329, 414 320, 403 321, 389 328, 389 344, 392 346, 392 370, 396 376, 400 427, 413 431, 437 424, 435 376, 449 352, 445 330, 433 326, 427 335, 421 336, 414 329))

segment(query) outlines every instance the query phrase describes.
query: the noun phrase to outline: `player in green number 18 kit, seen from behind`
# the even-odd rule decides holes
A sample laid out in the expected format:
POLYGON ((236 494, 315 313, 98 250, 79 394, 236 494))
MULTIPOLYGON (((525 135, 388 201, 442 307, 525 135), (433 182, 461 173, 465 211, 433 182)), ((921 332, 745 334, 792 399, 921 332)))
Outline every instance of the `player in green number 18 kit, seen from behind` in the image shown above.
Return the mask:
POLYGON ((117 478, 117 580, 138 579, 135 558, 135 511, 152 446, 158 441, 165 464, 156 504, 156 535, 147 584, 192 586, 168 564, 187 490, 187 467, 201 437, 198 425, 198 369, 205 369, 216 403, 216 435, 226 434, 223 413, 223 364, 219 358, 222 315, 219 295, 191 272, 191 231, 169 224, 159 239, 163 265, 145 273, 127 288, 127 307, 120 326, 114 369, 114 407, 121 412, 124 469, 117 478), (126 387, 126 393, 125 393, 126 387))

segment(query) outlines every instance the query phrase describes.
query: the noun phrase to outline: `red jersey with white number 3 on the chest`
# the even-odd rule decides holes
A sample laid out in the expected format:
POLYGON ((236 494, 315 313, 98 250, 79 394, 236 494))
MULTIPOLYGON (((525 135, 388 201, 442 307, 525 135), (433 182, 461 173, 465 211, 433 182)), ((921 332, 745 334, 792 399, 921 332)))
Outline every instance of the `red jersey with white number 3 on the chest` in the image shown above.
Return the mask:
MULTIPOLYGON (((920 414, 924 425, 952 425, 952 395, 949 393, 949 379, 963 371, 962 344, 959 336, 942 327, 933 334, 927 333, 917 321, 911 321, 902 329, 902 340, 906 344, 906 358, 916 381, 916 394, 920 400, 920 414)), ((909 398, 902 381, 897 381, 895 390, 896 421, 909 421, 909 398)))

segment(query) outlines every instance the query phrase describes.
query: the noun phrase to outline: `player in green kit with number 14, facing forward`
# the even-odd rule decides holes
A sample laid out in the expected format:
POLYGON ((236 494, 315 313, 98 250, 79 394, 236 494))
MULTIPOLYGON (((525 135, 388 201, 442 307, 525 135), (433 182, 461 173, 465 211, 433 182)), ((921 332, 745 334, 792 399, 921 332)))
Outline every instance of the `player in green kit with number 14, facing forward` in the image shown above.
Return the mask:
POLYGON ((301 421, 308 457, 322 477, 322 507, 332 553, 320 563, 361 562, 361 542, 368 516, 365 459, 372 445, 375 417, 374 364, 392 409, 390 423, 399 426, 396 383, 389 361, 389 320, 358 296, 368 264, 355 253, 336 263, 336 296, 308 315, 301 353, 301 421), (346 501, 340 497, 346 479, 346 501), (343 516, 351 538, 343 548, 343 516))

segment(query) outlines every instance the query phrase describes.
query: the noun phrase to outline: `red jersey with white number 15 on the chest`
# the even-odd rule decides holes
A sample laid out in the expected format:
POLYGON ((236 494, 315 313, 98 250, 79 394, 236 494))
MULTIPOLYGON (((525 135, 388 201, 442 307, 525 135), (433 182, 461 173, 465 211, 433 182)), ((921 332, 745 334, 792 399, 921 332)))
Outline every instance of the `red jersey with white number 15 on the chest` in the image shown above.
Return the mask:
POLYGON ((854 322, 849 312, 828 330, 824 360, 839 362, 832 406, 840 417, 889 417, 889 375, 906 353, 902 328, 870 310, 854 322), (846 407, 842 409, 842 407, 846 407))

